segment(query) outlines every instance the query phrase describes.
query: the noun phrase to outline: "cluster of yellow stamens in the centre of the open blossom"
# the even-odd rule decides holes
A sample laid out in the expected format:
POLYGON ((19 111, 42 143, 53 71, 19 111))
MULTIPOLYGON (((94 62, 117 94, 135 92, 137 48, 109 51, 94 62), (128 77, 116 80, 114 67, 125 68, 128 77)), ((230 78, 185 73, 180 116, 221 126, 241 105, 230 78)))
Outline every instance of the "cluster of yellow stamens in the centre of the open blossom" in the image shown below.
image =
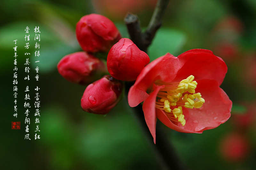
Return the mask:
POLYGON ((194 78, 193 75, 190 75, 180 82, 166 83, 157 81, 155 83, 158 86, 165 85, 157 94, 156 108, 163 110, 169 120, 180 122, 182 126, 186 124, 186 120, 182 114, 182 107, 197 109, 204 104, 201 93, 195 93, 197 82, 193 81, 194 78), (178 107, 171 109, 172 106, 178 107))

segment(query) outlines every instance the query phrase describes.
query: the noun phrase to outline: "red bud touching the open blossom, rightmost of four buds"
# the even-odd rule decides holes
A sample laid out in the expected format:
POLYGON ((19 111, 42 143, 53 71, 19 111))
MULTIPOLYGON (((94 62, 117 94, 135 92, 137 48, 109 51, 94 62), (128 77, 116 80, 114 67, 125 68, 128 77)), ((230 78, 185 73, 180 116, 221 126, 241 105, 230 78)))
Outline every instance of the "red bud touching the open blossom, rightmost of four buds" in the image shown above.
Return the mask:
POLYGON ((120 39, 108 52, 108 72, 118 80, 136 80, 148 63, 148 55, 128 38, 120 39))

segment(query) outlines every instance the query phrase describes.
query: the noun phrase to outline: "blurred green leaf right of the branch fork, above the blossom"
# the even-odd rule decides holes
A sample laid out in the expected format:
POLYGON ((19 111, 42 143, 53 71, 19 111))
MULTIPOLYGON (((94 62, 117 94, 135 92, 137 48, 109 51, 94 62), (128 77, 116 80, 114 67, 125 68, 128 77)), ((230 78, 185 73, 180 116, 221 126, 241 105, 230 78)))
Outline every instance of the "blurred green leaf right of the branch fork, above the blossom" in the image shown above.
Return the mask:
POLYGON ((163 56, 167 52, 177 56, 185 43, 186 36, 183 32, 174 29, 159 29, 148 49, 150 61, 163 56))

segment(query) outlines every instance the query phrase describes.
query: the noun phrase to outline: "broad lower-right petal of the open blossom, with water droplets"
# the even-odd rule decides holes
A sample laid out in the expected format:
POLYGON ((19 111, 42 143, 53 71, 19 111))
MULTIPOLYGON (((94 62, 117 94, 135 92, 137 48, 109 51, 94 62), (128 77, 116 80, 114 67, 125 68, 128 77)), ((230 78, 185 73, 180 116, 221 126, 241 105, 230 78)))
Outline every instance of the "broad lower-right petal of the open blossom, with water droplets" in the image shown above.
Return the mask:
POLYGON ((197 83, 196 92, 201 93, 205 103, 199 109, 188 109, 189 114, 185 117, 186 125, 188 124, 190 129, 185 129, 203 132, 216 128, 229 119, 232 102, 217 81, 203 79, 197 83))

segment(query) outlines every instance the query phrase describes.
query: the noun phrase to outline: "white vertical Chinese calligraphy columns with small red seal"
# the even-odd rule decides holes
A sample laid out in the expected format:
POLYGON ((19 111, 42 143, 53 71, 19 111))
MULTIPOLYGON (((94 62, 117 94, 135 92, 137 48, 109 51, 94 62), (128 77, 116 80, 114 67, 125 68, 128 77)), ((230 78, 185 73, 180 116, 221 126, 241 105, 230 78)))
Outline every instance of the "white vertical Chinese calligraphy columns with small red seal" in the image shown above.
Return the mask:
MULTIPOLYGON (((39 26, 35 27, 34 33, 31 34, 32 31, 29 31, 30 28, 27 26, 25 28, 24 39, 20 44, 20 40, 13 40, 14 46, 14 68, 13 68, 13 97, 14 97, 14 114, 15 118, 18 117, 18 107, 22 107, 23 109, 19 109, 19 112, 24 114, 20 115, 22 121, 14 120, 12 121, 12 129, 23 129, 25 130, 25 140, 31 140, 35 136, 35 140, 40 139, 40 87, 39 87, 39 62, 40 62, 40 30, 39 26), (31 36, 30 36, 31 35, 31 36), (35 41, 33 37, 35 35, 35 41), (19 42, 19 45, 18 45, 19 42), (22 48, 22 56, 21 61, 22 64, 19 66, 21 73, 21 79, 19 79, 19 90, 23 90, 19 93, 19 97, 22 98, 23 102, 18 99, 18 48, 22 48), (24 48, 24 49, 23 49, 24 48), (30 55, 31 53, 31 55, 30 55), (34 56, 35 54, 35 56, 34 56), (35 57, 35 61, 33 60, 35 57), (35 63, 34 63, 35 62, 35 63), (20 82, 21 81, 21 82, 20 82), (20 103, 19 103, 20 102, 20 103), (35 102, 35 103, 34 103, 35 102), (20 106, 18 106, 20 104, 20 106), (22 126, 22 124, 24 126, 22 126), (23 128, 22 128, 23 127, 23 128)), ((32 29, 33 30, 33 29, 32 29)))

